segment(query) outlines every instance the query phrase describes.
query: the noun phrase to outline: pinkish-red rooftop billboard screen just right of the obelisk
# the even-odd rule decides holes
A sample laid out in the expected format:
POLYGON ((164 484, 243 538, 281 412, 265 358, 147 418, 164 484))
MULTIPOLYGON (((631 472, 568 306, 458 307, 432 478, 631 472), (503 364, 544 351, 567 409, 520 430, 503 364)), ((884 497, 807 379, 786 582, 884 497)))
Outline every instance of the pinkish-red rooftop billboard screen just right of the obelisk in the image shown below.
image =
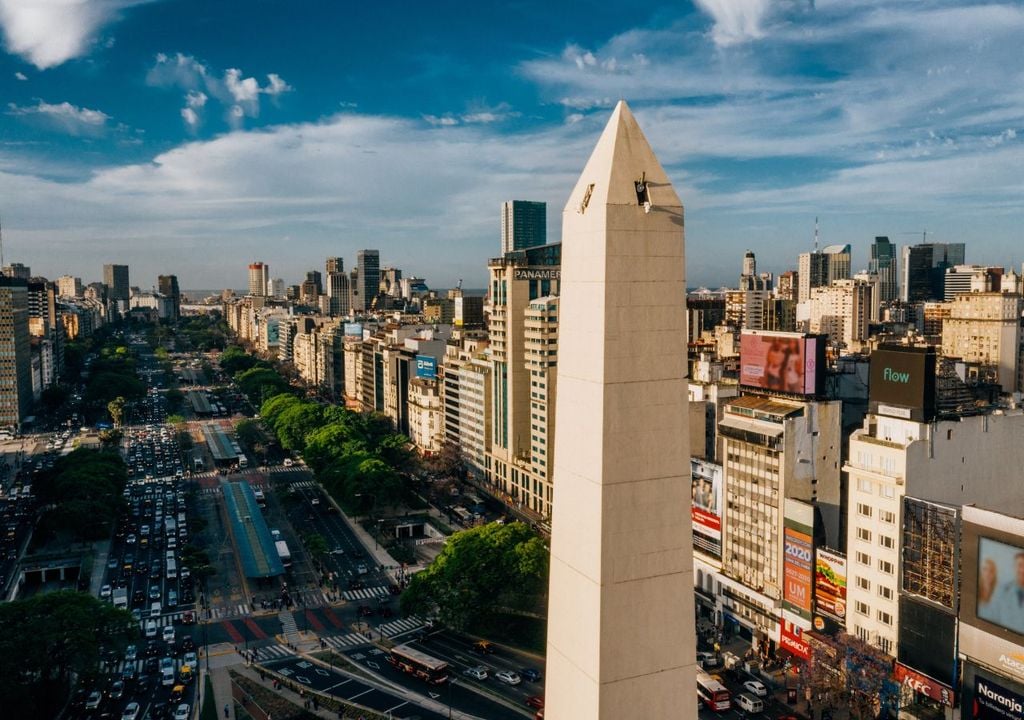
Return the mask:
POLYGON ((823 336, 743 332, 739 384, 800 395, 820 394, 824 389, 824 353, 823 336))

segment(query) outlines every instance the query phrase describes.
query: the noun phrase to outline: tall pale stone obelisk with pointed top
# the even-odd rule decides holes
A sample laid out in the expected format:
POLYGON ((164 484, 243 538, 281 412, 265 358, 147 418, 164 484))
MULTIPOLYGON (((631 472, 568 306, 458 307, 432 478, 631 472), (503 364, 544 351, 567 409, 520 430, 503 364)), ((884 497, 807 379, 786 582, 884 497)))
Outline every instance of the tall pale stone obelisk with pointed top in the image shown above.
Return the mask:
POLYGON ((683 206, 625 101, 562 218, 545 719, 695 718, 683 206))

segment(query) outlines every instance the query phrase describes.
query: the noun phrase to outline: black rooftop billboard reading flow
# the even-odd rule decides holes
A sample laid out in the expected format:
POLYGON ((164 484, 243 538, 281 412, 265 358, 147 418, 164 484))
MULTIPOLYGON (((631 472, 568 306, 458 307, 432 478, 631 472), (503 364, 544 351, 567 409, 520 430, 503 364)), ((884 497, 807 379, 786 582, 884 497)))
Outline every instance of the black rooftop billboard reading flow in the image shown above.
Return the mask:
POLYGON ((934 347, 882 345, 869 362, 872 412, 921 422, 935 417, 934 347))

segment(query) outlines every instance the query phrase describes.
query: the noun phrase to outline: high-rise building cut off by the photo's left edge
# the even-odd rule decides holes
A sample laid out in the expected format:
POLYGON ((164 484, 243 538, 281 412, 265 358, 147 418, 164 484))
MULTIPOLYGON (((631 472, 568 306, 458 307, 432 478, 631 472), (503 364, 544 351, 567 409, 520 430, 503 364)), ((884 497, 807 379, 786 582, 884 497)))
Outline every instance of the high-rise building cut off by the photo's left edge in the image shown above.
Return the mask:
POLYGON ((0 426, 17 427, 32 412, 28 283, 0 278, 0 426))

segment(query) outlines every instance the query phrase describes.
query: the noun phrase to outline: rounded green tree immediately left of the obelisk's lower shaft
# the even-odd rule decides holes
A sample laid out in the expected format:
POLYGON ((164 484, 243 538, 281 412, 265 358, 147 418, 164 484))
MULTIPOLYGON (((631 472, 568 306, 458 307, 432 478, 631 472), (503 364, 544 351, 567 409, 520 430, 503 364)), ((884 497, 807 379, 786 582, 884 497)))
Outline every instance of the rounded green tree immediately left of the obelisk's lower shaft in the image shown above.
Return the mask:
POLYGON ((512 611, 544 607, 548 550, 521 522, 457 533, 401 595, 406 613, 431 616, 463 629, 512 611))

